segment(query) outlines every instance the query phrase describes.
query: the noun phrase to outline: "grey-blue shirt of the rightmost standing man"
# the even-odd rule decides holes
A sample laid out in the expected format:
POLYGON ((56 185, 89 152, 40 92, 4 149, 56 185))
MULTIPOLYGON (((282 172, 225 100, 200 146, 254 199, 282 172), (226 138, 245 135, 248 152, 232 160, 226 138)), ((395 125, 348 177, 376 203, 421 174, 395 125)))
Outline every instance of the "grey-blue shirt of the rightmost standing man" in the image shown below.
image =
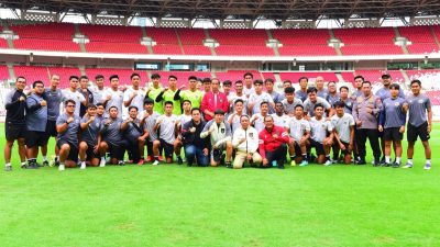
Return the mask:
POLYGON ((431 109, 431 100, 426 94, 418 94, 417 97, 410 93, 407 97, 409 106, 408 123, 413 126, 420 126, 427 122, 427 110, 431 109))

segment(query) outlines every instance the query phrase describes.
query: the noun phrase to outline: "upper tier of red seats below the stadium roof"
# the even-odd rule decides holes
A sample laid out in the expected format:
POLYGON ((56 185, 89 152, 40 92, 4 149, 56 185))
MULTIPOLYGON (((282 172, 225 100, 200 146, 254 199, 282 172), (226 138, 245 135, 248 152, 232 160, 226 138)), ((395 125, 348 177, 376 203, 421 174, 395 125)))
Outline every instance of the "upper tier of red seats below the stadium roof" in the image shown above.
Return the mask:
POLYGON ((440 48, 440 26, 202 30, 9 23, 0 26, 1 31, 12 31, 15 40, 8 43, 0 38, 0 48, 48 52, 283 57, 426 54, 440 48), (86 37, 87 42, 75 43, 74 37, 86 37), (395 45, 396 38, 407 43, 395 45))

